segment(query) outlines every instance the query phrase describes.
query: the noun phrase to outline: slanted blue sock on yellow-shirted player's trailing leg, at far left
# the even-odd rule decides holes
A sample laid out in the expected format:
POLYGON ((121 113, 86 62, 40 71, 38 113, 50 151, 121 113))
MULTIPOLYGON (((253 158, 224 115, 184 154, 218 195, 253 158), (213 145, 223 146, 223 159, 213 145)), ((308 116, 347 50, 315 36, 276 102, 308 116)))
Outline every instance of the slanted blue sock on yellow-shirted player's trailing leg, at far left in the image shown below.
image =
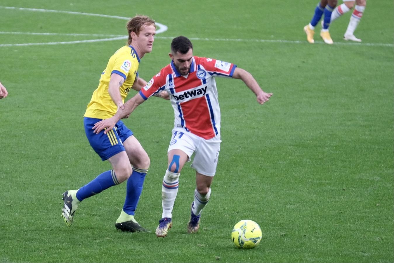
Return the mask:
POLYGON ((114 185, 119 185, 115 172, 113 172, 113 170, 106 171, 81 187, 78 192, 76 192, 76 198, 82 201, 114 185))

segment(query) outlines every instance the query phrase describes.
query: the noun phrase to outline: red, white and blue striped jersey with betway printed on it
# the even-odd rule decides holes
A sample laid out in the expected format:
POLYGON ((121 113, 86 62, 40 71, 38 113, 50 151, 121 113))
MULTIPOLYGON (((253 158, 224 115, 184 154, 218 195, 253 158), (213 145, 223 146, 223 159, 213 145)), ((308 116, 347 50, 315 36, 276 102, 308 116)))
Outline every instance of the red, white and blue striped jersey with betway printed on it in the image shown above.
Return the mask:
POLYGON ((174 108, 175 127, 206 140, 220 138, 220 109, 214 77, 231 78, 235 68, 236 65, 229 62, 193 56, 187 76, 180 75, 171 62, 139 94, 148 99, 162 90, 167 91, 174 108))

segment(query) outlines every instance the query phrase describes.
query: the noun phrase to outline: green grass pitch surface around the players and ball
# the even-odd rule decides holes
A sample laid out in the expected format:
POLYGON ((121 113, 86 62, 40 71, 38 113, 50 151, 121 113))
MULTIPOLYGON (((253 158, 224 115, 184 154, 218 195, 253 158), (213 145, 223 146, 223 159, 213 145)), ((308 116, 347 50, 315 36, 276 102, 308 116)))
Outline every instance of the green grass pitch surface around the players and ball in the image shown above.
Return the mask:
MULTIPOLYGON (((303 32, 317 2, 2 0, 0 81, 9 96, 0 100, 0 262, 393 262, 394 4, 368 1, 355 32, 361 44, 342 39, 347 13, 331 25, 331 46, 320 26, 314 45, 303 32), (125 184, 85 200, 65 226, 61 194, 110 169, 87 142, 82 116, 126 40, 39 43, 125 35, 126 20, 27 8, 149 15, 168 30, 141 60, 145 80, 169 63, 172 37, 185 35, 195 55, 233 62, 273 92, 259 105, 242 81, 216 78, 223 142, 197 234, 186 233, 188 166, 165 239, 115 229, 125 184), (253 250, 231 242, 242 219, 262 229, 253 250)), ((152 98, 125 123, 151 158, 136 219, 154 231, 173 110, 152 98)))

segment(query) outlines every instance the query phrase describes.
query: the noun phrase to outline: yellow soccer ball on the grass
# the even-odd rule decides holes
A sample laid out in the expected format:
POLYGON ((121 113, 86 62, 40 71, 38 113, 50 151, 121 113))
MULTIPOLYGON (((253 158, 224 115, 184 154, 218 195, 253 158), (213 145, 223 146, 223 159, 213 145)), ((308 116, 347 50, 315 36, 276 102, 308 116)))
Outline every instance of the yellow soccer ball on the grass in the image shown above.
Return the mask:
POLYGON ((261 229, 255 221, 241 220, 232 229, 231 238, 238 248, 254 248, 261 241, 261 229))

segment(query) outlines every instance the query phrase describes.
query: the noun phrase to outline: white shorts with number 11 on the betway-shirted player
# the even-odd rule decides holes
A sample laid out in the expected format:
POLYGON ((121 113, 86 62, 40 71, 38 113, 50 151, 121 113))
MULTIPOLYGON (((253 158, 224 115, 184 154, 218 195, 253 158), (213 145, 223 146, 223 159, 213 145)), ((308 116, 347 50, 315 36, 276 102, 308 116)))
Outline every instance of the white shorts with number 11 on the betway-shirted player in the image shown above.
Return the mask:
POLYGON ((217 159, 219 158, 221 140, 217 136, 205 140, 182 128, 174 128, 172 133, 173 136, 167 152, 174 149, 184 151, 189 157, 188 161, 190 161, 191 155, 195 153, 190 167, 203 175, 214 176, 216 173, 217 159))

